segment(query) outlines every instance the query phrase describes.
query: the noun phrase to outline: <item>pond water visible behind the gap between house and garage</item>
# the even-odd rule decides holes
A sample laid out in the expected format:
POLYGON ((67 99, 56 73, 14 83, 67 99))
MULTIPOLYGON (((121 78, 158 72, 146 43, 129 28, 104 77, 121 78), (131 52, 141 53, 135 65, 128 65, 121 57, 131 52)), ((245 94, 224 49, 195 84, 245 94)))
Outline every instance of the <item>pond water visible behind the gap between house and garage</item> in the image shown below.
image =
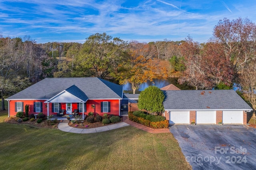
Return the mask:
MULTIPOLYGON (((186 84, 180 85, 178 83, 178 78, 168 78, 167 80, 156 79, 153 82, 148 81, 146 83, 142 83, 142 84, 140 84, 139 91, 144 90, 148 86, 156 86, 158 88, 162 88, 164 86, 168 86, 169 84, 173 84, 174 86, 180 88, 180 90, 194 90, 193 87, 188 86, 186 84)), ((124 90, 128 90, 128 91, 132 90, 132 86, 130 83, 123 84, 122 86, 124 87, 124 90)))

